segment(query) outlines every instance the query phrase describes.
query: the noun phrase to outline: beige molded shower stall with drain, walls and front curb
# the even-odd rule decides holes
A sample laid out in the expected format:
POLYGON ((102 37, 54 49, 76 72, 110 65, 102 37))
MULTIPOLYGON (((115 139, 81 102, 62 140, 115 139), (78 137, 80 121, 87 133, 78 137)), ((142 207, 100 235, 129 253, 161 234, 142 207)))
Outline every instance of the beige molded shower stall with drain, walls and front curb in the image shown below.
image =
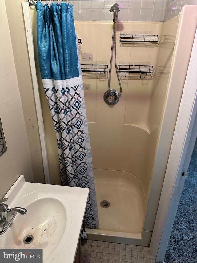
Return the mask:
MULTIPOLYGON (((34 6, 30 13, 39 68, 34 6)), ((103 100, 109 72, 82 74, 84 87, 88 87, 84 92, 100 221, 99 229, 86 229, 89 239, 150 244, 196 31, 196 13, 196 6, 184 6, 180 16, 164 23, 117 19, 118 66, 153 68, 146 76, 142 72, 118 72, 122 94, 117 104, 108 105, 103 100), (158 40, 125 43, 120 35, 157 35, 158 40)), ((81 64, 109 65, 113 22, 75 21, 75 30, 82 40, 82 45, 78 45, 80 56, 93 54, 91 62, 81 64)), ((57 184, 56 137, 39 71, 37 77, 50 181, 57 184)), ((111 88, 119 91, 114 63, 111 88)))

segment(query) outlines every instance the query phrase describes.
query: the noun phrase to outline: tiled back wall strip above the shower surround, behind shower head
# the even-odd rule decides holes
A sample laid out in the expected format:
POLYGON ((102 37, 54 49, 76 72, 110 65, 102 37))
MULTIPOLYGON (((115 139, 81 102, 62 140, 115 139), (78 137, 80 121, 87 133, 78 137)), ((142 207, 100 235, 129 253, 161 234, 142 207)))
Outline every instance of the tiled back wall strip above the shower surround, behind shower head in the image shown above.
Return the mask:
POLYGON ((163 21, 167 0, 93 0, 70 1, 74 6, 75 21, 112 21, 110 7, 117 2, 121 7, 120 21, 163 21))

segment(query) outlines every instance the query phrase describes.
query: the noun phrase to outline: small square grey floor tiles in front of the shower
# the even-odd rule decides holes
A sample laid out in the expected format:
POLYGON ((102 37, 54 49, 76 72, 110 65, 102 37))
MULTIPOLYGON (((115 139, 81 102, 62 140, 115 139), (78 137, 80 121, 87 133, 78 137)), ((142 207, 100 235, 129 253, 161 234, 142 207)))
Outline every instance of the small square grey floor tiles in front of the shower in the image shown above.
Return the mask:
POLYGON ((154 263, 147 247, 92 240, 81 241, 80 263, 154 263))

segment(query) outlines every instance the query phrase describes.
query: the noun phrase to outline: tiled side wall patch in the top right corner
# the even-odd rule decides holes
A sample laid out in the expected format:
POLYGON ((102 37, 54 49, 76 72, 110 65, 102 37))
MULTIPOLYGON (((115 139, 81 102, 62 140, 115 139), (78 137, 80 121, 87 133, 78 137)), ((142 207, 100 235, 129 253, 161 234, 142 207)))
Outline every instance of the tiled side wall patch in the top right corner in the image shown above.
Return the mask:
POLYGON ((185 5, 197 5, 197 0, 167 0, 164 22, 179 15, 185 5))

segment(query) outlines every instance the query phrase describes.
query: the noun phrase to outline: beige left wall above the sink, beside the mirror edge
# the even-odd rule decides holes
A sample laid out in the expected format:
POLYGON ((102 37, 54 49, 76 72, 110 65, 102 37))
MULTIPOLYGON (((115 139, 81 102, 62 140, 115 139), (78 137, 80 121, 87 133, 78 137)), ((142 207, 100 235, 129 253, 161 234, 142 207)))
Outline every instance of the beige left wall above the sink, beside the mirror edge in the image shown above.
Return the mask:
POLYGON ((31 158, 14 64, 5 2, 0 1, 0 116, 7 151, 0 156, 0 198, 20 174, 33 181, 31 158))

